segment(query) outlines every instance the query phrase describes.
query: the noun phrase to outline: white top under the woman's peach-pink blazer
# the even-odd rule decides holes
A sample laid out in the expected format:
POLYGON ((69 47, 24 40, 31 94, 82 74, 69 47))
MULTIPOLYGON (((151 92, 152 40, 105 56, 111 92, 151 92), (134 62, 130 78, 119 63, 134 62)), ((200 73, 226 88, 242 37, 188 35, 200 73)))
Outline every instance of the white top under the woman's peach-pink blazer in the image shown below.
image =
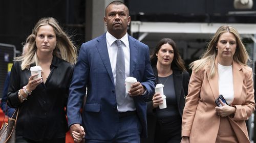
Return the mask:
POLYGON ((231 66, 222 66, 218 63, 219 93, 230 105, 234 99, 233 72, 231 66))

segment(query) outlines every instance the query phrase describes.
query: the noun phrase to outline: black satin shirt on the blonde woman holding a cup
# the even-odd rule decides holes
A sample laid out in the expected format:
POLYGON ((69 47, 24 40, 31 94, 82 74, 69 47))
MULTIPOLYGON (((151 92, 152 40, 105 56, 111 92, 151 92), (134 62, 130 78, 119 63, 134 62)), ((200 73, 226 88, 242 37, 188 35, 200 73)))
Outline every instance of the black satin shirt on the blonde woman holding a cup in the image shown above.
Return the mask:
POLYGON ((14 62, 12 66, 8 90, 8 105, 19 107, 16 134, 38 141, 65 137, 68 131, 65 107, 73 66, 54 56, 46 83, 37 85, 28 99, 20 103, 18 90, 27 85, 31 76, 30 70, 22 70, 20 64, 14 62))

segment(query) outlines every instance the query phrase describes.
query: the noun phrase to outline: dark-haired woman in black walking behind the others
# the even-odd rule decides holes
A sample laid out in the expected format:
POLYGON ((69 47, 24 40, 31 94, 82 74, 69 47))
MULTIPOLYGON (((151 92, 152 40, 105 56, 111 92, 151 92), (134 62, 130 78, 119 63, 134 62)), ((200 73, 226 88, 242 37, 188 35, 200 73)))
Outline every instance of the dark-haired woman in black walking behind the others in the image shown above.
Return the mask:
POLYGON ((158 107, 163 103, 160 94, 154 94, 152 101, 147 103, 148 138, 142 142, 180 142, 189 74, 172 39, 164 38, 158 42, 151 64, 157 83, 164 85, 167 107, 158 107))

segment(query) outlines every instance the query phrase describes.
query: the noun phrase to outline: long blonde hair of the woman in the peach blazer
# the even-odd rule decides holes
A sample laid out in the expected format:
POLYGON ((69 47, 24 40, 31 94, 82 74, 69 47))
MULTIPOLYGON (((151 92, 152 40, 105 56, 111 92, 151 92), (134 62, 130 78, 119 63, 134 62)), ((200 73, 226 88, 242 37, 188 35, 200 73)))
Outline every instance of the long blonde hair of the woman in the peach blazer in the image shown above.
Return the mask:
POLYGON ((197 72, 200 69, 208 66, 210 68, 210 78, 214 77, 216 73, 214 62, 215 62, 216 55, 218 53, 218 51, 216 50, 216 46, 220 36, 226 32, 232 33, 236 37, 237 47, 236 47, 236 52, 233 55, 233 61, 237 62, 240 65, 247 66, 247 62, 251 60, 246 51, 244 44, 242 43, 242 40, 240 38, 238 31, 236 30, 236 28, 232 26, 222 25, 218 28, 217 32, 210 40, 207 46, 207 50, 203 53, 203 55, 201 56, 201 59, 189 64, 189 68, 197 72))

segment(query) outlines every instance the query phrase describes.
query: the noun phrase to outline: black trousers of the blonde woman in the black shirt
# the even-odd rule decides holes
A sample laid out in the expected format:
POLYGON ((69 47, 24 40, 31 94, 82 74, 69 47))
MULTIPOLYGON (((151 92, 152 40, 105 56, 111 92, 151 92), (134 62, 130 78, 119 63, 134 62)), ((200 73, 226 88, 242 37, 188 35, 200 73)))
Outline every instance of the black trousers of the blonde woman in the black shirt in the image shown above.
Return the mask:
POLYGON ((16 135, 16 143, 65 143, 66 137, 54 138, 54 139, 44 139, 43 141, 34 141, 23 136, 16 135))

